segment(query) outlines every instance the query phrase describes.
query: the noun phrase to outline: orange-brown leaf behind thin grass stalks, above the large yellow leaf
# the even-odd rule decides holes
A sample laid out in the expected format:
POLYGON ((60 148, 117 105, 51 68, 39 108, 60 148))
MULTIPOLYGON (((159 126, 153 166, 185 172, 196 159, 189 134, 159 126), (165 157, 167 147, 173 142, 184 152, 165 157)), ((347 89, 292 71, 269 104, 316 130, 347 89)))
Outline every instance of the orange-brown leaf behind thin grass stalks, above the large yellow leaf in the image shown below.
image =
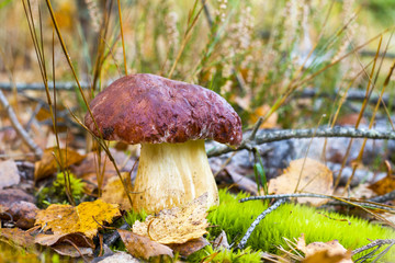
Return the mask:
MULTIPOLYGON (((65 168, 78 163, 83 160, 84 156, 79 155, 77 151, 67 148, 60 149, 61 159, 65 162, 65 168)), ((44 179, 58 170, 58 162, 60 162, 59 153, 56 147, 44 150, 43 157, 35 163, 34 180, 38 181, 44 179), (55 159, 54 153, 57 159, 55 159)))

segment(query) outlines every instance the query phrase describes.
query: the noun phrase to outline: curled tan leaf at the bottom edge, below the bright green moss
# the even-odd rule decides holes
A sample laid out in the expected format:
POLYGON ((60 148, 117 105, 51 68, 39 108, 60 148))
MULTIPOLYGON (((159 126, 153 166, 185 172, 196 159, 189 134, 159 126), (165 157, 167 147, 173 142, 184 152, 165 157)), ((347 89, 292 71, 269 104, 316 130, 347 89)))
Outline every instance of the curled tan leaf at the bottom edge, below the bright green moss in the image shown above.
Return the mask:
POLYGON ((324 262, 324 263, 352 263, 351 251, 342 247, 339 241, 331 240, 326 243, 313 242, 306 245, 304 235, 297 239, 296 248, 305 254, 303 262, 324 262))

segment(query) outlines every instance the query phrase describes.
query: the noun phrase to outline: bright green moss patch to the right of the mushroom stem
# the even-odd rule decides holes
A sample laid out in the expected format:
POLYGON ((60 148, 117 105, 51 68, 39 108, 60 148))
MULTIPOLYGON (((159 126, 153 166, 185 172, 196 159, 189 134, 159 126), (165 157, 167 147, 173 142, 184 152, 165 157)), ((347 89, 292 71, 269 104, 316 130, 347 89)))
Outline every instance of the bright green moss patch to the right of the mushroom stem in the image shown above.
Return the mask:
MULTIPOLYGON (((238 242, 256 217, 268 208, 268 205, 261 201, 238 202, 247 196, 242 193, 234 196, 219 191, 221 204, 207 217, 212 225, 218 226, 210 230, 213 236, 225 230, 228 240, 238 242)), ((370 243, 369 240, 395 238, 393 230, 369 224, 360 218, 303 205, 285 204, 258 225, 247 245, 275 253, 276 247, 286 247, 283 238, 293 240, 302 233, 305 235, 306 243, 337 239, 345 248, 351 250, 370 243)), ((394 255, 393 251, 390 252, 394 255)))

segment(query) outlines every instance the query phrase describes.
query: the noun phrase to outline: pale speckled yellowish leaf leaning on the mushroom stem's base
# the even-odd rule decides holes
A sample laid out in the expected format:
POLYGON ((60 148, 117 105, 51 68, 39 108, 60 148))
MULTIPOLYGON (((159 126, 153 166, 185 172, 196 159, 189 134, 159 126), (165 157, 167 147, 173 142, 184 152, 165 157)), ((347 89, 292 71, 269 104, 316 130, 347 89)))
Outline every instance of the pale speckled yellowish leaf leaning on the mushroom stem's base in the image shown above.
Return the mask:
POLYGON ((163 244, 198 239, 207 232, 206 204, 207 193, 182 207, 163 209, 157 217, 148 216, 144 222, 136 221, 133 232, 163 244))

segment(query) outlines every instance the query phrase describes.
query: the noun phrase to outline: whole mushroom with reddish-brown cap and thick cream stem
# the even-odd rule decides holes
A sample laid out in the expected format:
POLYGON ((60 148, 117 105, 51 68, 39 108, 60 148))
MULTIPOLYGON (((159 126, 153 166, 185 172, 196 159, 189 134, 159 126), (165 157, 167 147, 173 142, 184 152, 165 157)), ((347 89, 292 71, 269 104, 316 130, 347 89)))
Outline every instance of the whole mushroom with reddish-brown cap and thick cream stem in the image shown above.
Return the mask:
MULTIPOLYGON (((238 146, 241 121, 215 92, 195 84, 138 73, 123 77, 90 103, 103 139, 140 144, 132 202, 135 210, 157 213, 208 193, 218 204, 204 139, 238 146)), ((100 133, 90 116, 87 127, 100 133)))

